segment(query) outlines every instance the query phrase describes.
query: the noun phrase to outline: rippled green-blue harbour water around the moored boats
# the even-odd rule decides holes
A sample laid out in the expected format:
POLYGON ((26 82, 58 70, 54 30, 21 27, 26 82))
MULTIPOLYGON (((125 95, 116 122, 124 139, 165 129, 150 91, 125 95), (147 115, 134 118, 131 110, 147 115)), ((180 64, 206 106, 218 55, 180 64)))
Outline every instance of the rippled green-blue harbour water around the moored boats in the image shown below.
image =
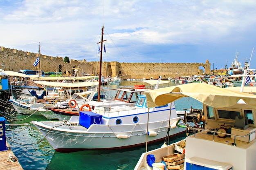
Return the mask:
MULTIPOLYGON (((169 86, 176 85, 170 83, 169 86)), ((130 81, 122 81, 120 86, 130 86, 130 81)), ((108 85, 103 88, 119 88, 119 85, 108 85)), ((192 98, 183 98, 175 102, 176 110, 184 108, 202 108, 202 104, 192 98)), ((72 153, 56 152, 41 133, 32 124, 32 120, 45 121, 41 115, 21 115, 21 121, 8 124, 6 136, 14 154, 24 170, 133 170, 145 146, 124 150, 81 151, 72 153), (23 119, 23 120, 22 120, 23 119), (43 139, 43 140, 42 140, 43 139)), ((171 138, 171 143, 183 139, 186 135, 171 138)), ((148 150, 159 148, 163 142, 151 144, 148 150)))

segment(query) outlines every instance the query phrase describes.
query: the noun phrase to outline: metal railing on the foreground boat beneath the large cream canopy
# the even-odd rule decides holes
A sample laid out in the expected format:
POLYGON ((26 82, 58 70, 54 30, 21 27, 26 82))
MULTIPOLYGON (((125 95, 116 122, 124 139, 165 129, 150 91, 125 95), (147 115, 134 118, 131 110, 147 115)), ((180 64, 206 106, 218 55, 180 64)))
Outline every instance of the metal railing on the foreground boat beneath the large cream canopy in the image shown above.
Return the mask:
POLYGON ((206 131, 206 132, 212 132, 213 133, 213 141, 215 140, 215 133, 219 133, 219 134, 223 134, 223 135, 227 135, 227 136, 233 136, 234 137, 234 146, 236 146, 236 137, 248 137, 248 143, 250 143, 250 135, 254 134, 256 132, 253 131, 253 132, 250 132, 248 133, 247 135, 244 135, 244 136, 240 136, 240 135, 233 135, 233 134, 230 134, 230 133, 223 133, 223 132, 217 132, 216 130, 206 130, 206 129, 203 129, 203 128, 198 128, 198 126, 202 126, 204 124, 198 124, 197 126, 191 126, 189 127, 191 130, 194 131, 194 137, 196 136, 196 132, 198 131, 206 131))

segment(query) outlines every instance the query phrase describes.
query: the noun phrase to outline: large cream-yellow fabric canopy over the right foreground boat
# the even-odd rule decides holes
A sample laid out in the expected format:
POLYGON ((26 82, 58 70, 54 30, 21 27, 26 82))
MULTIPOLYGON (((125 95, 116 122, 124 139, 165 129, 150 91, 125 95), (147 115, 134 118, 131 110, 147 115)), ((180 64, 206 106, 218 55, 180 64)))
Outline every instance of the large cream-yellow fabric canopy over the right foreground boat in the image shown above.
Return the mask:
POLYGON ((240 99, 256 108, 256 95, 229 91, 206 83, 191 83, 146 91, 149 107, 163 106, 182 97, 192 97, 216 108, 233 106, 240 99))

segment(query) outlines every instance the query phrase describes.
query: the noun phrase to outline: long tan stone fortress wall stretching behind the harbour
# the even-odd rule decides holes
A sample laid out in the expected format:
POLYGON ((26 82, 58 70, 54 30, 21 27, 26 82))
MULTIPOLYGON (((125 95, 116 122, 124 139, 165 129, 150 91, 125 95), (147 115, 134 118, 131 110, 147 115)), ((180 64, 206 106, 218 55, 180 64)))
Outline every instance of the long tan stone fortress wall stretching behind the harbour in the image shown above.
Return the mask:
MULTIPOLYGON (((37 70, 33 66, 38 53, 30 53, 0 47, 0 64, 4 64, 4 70, 16 71, 23 69, 37 70)), ((99 75, 99 62, 86 62, 86 60, 73 60, 70 63, 64 63, 63 57, 52 57, 48 55, 40 55, 40 63, 42 71, 61 71, 63 75, 74 75, 74 69, 78 68, 79 76, 85 74, 99 75)), ((0 65, 1 66, 1 65, 0 65)), ((211 64, 207 60, 205 63, 119 63, 119 62, 102 62, 103 76, 119 76, 123 79, 145 77, 149 79, 153 77, 157 79, 162 75, 162 79, 168 77, 180 77, 191 75, 208 74, 211 71, 211 64), (204 68, 204 71, 200 67, 204 68)))

